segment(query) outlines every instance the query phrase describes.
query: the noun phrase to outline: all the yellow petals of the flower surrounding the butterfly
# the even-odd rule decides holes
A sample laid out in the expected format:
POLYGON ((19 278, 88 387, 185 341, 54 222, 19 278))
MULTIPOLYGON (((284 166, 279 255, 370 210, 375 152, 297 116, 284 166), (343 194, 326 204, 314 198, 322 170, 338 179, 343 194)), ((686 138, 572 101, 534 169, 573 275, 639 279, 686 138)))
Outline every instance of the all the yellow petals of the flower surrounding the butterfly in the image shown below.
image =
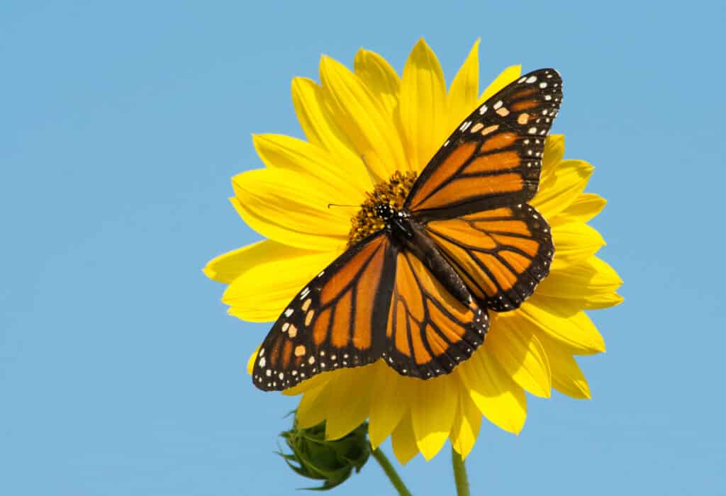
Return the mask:
MULTIPOLYGON (((205 268, 207 276, 229 284, 223 297, 229 313, 274 321, 346 248, 354 212, 327 204, 361 204, 366 191, 394 172, 420 172, 450 131, 518 78, 520 67, 502 71, 483 94, 478 74, 477 42, 447 92, 436 55, 421 40, 402 77, 383 57, 362 49, 352 72, 322 57, 320 84, 295 78, 293 103, 308 141, 254 136, 266 168, 232 180, 234 208, 267 239, 205 268)), ((574 355, 603 352, 605 343, 584 310, 619 304, 621 279, 595 256, 605 241, 587 225, 605 206, 603 198, 583 193, 592 165, 563 160, 564 149, 563 136, 547 138, 539 191, 531 201, 549 220, 556 247, 550 276, 534 294, 518 310, 492 313, 484 344, 446 376, 407 378, 379 360, 288 389, 285 394, 303 395, 301 428, 327 421, 327 437, 338 439, 369 419, 372 445, 390 435, 401 463, 418 452, 432 458, 446 439, 465 457, 482 415, 505 431, 521 431, 525 391, 550 397, 554 387, 590 397, 574 355)))

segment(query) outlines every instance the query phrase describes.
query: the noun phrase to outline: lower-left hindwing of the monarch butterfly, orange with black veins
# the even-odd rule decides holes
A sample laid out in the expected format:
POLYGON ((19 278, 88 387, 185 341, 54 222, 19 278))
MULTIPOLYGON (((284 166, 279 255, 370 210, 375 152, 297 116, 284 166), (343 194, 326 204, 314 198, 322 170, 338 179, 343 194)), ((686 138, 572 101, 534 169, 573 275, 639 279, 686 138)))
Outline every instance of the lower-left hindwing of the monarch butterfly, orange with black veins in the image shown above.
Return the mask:
POLYGON ((396 274, 383 358, 420 379, 451 372, 484 342, 489 315, 468 298, 454 298, 415 255, 396 254, 396 274))

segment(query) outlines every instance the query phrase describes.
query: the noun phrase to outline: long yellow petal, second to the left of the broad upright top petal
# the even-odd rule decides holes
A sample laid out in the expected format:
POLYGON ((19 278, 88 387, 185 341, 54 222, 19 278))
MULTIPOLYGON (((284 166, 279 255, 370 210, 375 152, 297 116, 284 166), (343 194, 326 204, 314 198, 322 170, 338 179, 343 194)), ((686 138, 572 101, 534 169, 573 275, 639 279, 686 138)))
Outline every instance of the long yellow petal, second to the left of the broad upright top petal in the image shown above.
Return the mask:
POLYGON ((364 158, 373 181, 388 180, 396 170, 405 170, 398 130, 362 80, 330 57, 320 59, 320 79, 335 122, 364 158))

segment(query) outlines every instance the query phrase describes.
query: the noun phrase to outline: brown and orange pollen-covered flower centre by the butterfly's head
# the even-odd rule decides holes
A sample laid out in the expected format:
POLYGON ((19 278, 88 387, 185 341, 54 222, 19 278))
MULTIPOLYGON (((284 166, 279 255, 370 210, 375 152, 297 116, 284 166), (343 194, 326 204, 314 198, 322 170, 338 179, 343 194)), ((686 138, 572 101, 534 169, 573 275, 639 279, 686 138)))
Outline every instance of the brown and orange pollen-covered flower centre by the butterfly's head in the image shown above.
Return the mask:
POLYGON ((366 192, 367 199, 361 205, 361 210, 351 218, 352 226, 348 233, 348 246, 383 229, 383 219, 376 214, 375 206, 388 204, 396 210, 403 208, 409 191, 416 182, 417 175, 412 170, 404 173, 396 170, 388 181, 376 184, 372 193, 366 192))

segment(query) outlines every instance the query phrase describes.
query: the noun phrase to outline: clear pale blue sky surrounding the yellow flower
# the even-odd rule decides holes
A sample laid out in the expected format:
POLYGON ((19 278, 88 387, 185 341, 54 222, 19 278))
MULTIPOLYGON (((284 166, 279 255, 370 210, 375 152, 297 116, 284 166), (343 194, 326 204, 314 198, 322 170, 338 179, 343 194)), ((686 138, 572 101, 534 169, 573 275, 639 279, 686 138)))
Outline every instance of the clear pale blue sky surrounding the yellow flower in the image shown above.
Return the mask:
MULTIPOLYGON (((624 305, 592 313, 592 401, 484 423, 474 494, 726 492, 724 7, 690 1, 0 4, 0 494, 287 495, 295 400, 245 372, 266 325, 227 317, 208 259, 258 239, 227 202, 250 133, 301 136, 290 78, 425 36, 449 80, 557 67, 555 131, 597 166, 624 305), (304 4, 304 6, 303 6, 304 4)), ((386 445, 390 452, 390 445, 386 445)), ((452 494, 447 450, 403 471, 452 494)), ((391 492, 375 463, 335 494, 391 492)))

